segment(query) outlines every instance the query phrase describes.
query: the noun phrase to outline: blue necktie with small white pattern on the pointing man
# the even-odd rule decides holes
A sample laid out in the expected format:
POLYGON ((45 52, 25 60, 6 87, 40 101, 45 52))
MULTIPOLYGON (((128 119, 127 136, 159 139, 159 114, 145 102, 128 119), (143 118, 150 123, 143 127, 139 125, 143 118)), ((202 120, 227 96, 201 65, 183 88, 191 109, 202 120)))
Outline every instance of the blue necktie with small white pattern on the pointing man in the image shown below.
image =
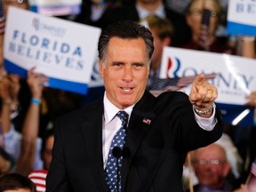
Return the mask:
POLYGON ((121 191, 121 167, 122 167, 122 159, 116 158, 112 154, 112 150, 115 147, 124 148, 125 142, 125 126, 127 124, 128 114, 125 111, 119 111, 116 116, 118 116, 122 122, 121 128, 116 132, 108 153, 108 161, 105 168, 106 181, 108 184, 108 190, 111 192, 121 191), (118 168, 117 168, 118 166, 118 168))

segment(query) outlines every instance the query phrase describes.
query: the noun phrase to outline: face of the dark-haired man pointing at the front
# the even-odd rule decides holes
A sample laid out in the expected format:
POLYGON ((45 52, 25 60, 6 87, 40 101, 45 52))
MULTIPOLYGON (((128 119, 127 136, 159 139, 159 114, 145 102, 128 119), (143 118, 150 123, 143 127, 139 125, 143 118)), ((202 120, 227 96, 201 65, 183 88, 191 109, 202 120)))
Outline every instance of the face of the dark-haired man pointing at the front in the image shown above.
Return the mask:
POLYGON ((142 97, 148 81, 148 57, 142 38, 111 37, 100 74, 106 95, 117 108, 127 108, 142 97))

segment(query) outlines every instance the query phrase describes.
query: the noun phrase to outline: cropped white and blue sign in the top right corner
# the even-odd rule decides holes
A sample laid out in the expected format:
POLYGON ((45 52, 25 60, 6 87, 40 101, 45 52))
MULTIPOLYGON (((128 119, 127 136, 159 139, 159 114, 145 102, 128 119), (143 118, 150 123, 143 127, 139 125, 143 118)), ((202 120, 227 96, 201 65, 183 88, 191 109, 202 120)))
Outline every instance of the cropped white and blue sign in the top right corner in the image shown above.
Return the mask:
POLYGON ((229 0, 228 34, 256 36, 256 0, 229 0))

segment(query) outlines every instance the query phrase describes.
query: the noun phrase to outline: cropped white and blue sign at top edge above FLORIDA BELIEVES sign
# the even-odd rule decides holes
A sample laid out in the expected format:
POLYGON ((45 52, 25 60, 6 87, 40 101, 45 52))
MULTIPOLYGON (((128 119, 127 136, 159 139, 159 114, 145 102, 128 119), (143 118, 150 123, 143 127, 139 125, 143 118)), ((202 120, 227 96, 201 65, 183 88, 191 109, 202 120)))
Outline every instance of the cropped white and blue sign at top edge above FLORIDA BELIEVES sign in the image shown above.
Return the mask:
POLYGON ((72 15, 81 12, 82 0, 28 0, 30 9, 44 15, 72 15))

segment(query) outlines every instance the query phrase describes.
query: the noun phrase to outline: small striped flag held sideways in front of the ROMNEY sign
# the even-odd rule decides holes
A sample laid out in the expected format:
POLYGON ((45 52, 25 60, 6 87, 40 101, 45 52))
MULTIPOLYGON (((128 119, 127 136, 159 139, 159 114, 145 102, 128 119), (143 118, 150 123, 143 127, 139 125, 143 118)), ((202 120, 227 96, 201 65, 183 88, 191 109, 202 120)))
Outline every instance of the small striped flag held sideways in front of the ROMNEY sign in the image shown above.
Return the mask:
MULTIPOLYGON (((205 79, 213 79, 215 76, 215 73, 206 74, 205 79)), ((196 76, 182 76, 166 79, 153 77, 150 79, 148 90, 153 95, 157 96, 161 92, 178 91, 181 88, 188 86, 188 84, 192 84, 195 79, 196 76)))

